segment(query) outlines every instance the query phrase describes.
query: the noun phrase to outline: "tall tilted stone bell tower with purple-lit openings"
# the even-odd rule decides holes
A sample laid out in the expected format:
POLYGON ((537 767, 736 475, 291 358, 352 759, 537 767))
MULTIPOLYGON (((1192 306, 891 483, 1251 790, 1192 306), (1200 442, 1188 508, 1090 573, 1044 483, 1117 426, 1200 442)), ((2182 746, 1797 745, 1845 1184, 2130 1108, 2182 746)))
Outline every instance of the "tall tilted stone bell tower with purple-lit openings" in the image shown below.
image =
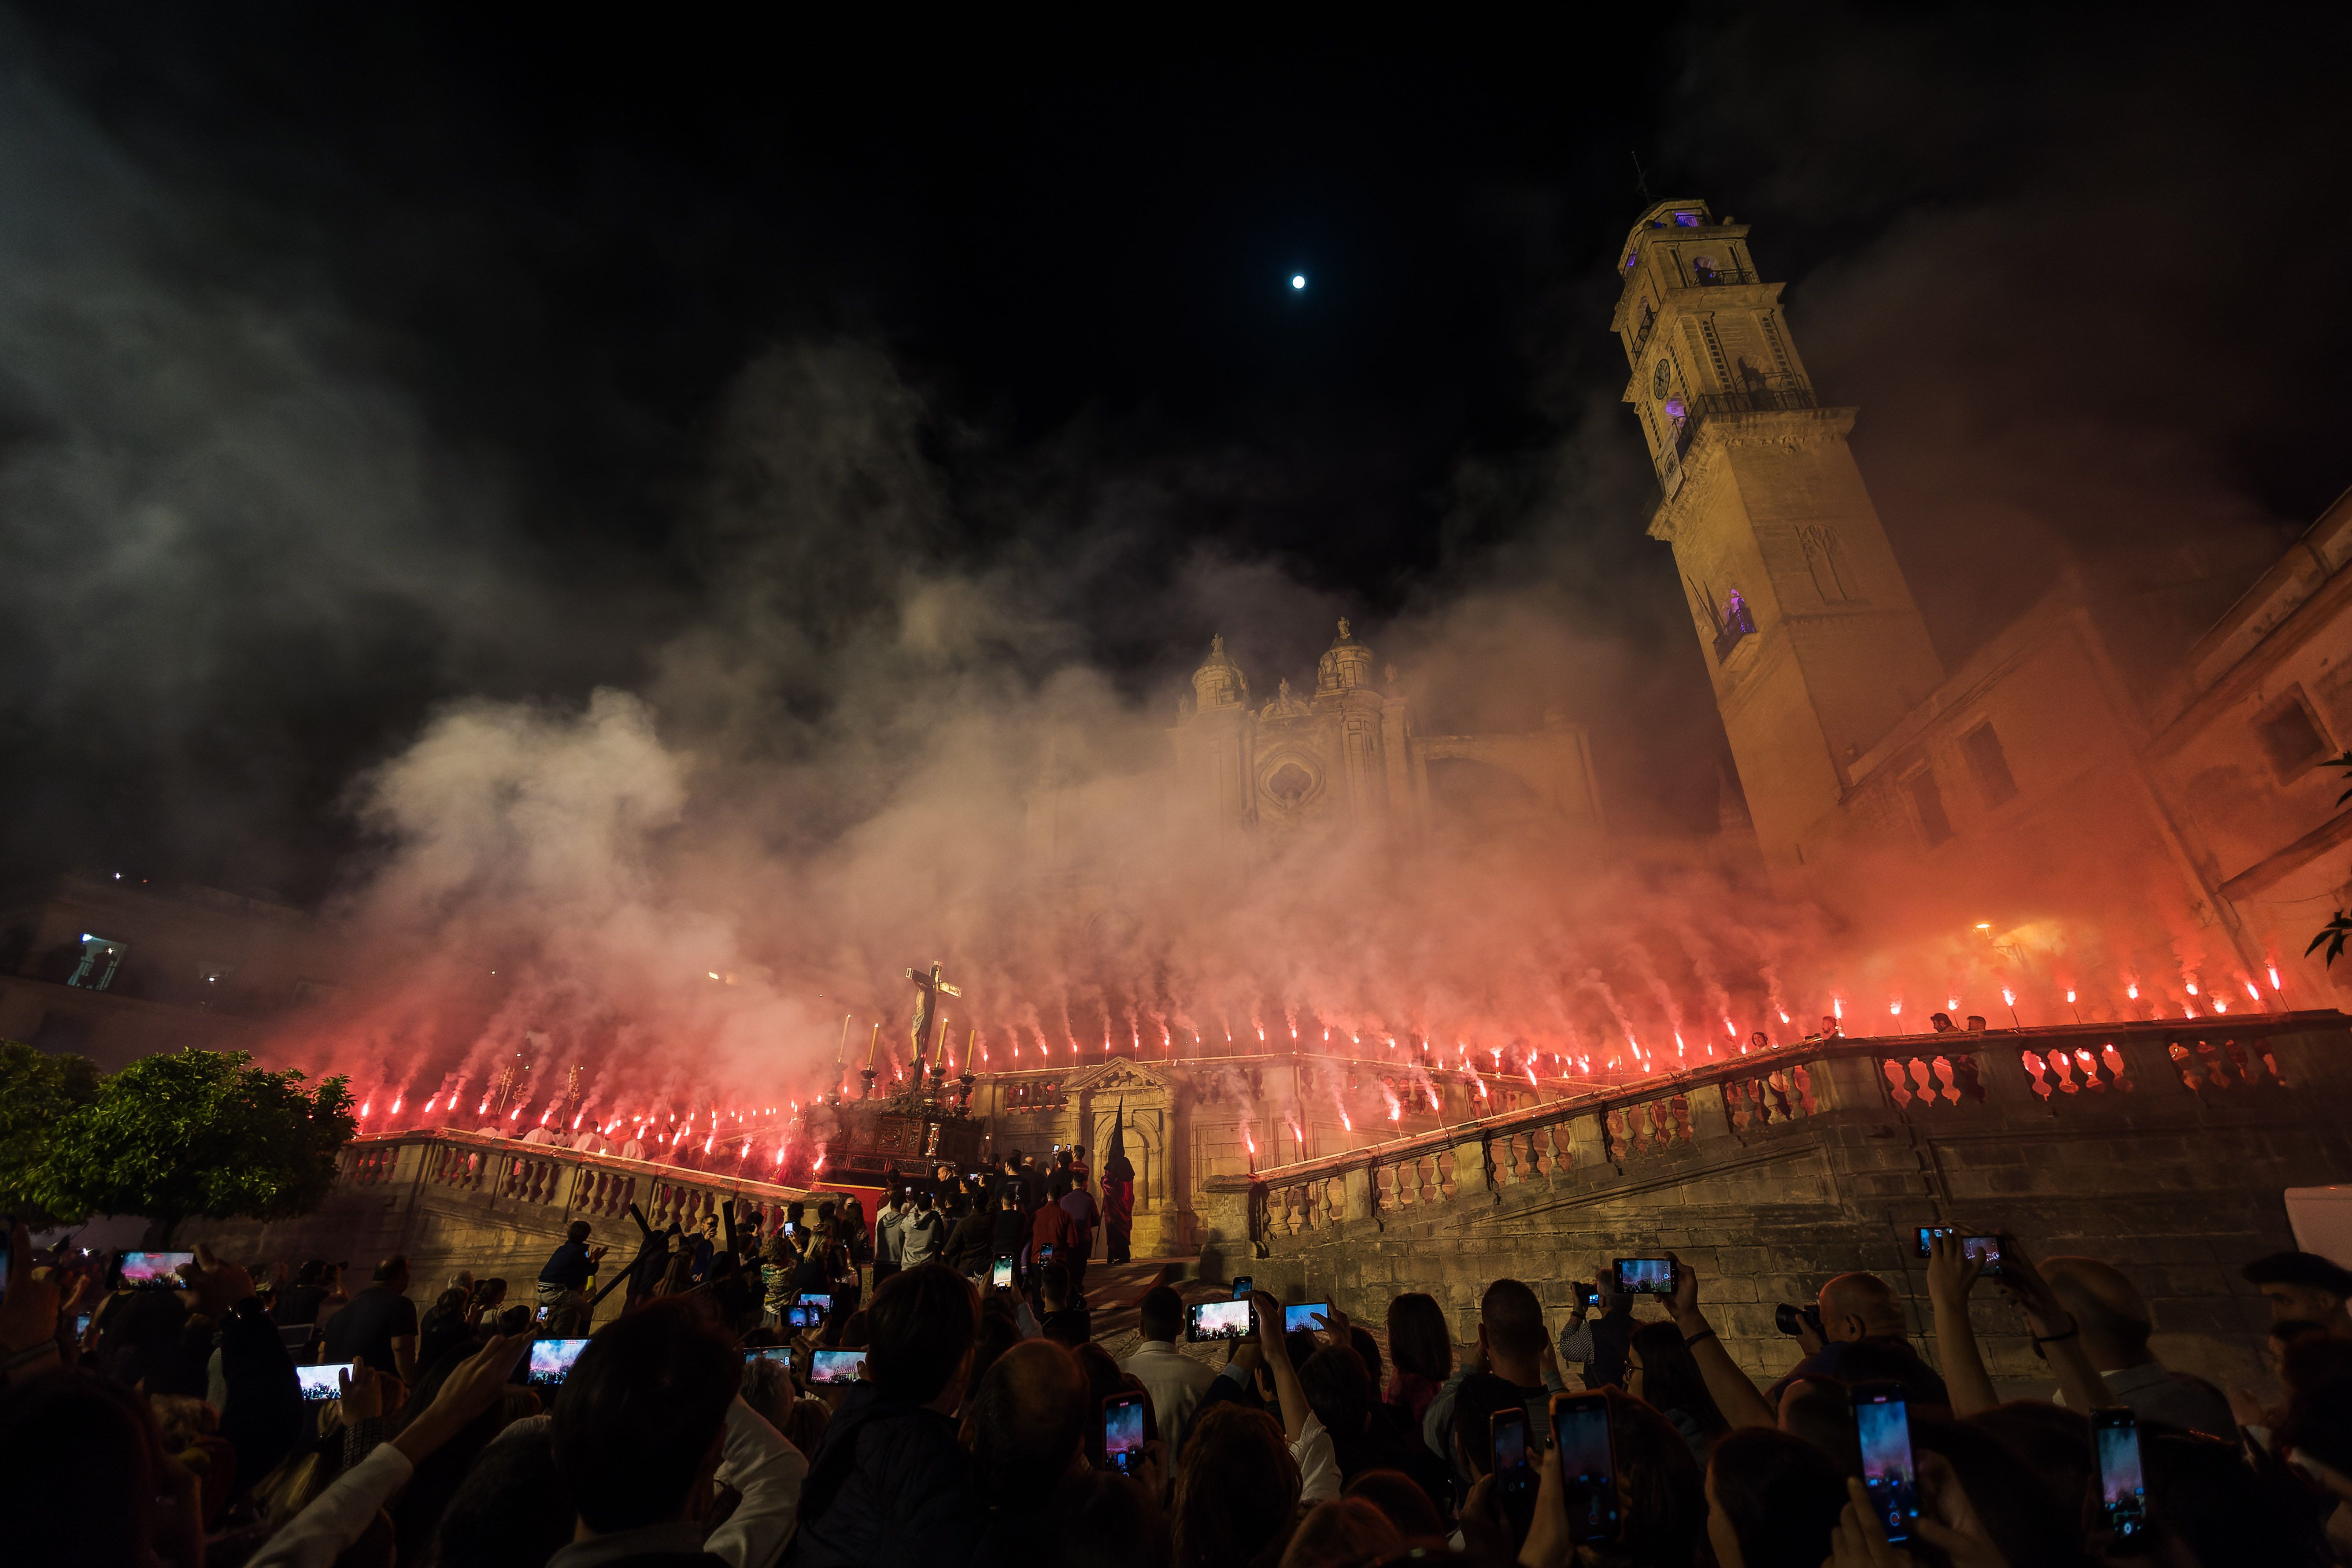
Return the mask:
POLYGON ((1762 282, 1748 226, 1658 202, 1618 252, 1611 329, 1766 865, 1799 865, 1846 766, 1938 684, 1846 433, 1762 282))

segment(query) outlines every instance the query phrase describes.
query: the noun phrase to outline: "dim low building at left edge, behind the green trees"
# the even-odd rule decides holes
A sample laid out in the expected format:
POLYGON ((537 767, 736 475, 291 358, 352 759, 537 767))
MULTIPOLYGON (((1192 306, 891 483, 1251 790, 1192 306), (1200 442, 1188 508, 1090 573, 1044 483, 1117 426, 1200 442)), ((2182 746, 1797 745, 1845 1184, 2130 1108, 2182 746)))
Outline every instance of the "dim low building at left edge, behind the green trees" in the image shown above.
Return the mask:
POLYGON ((0 1039, 106 1070, 245 1048, 332 973, 308 914, 221 889, 71 872, 0 900, 0 1039))

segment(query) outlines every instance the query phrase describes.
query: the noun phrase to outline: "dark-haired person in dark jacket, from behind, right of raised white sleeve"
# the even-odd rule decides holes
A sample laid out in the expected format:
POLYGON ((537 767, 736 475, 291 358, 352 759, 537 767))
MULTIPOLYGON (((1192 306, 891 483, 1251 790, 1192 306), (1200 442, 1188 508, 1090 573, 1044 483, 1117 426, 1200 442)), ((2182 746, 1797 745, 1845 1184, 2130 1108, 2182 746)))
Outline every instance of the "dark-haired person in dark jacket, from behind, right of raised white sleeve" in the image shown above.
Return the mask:
POLYGON ((929 1262, 866 1309, 866 1382, 851 1385, 800 1490, 788 1568, 957 1568, 985 1509, 953 1410, 981 1326, 971 1284, 929 1262))

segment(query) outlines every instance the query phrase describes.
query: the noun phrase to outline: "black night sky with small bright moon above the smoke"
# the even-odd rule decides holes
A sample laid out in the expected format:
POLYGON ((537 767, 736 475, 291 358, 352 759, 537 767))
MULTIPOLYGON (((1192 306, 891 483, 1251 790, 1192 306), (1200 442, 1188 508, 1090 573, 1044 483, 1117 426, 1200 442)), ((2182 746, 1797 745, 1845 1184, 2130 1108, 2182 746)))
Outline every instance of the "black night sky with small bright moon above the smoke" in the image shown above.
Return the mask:
MULTIPOLYGON (((891 550, 1051 564, 1136 701, 1237 632, 1164 592, 1204 555, 1369 628, 1543 581, 1682 693, 1564 689, 1611 783, 1712 820, 1606 331, 1635 158, 1757 226, 1947 663, 2060 559, 2227 602, 2352 482, 2340 7, 348 12, 0 21, 14 875, 310 900, 435 703, 642 682, 729 571, 729 397, 793 343, 922 400, 891 550)), ((1275 670, 1329 628, 1244 635, 1275 670)))

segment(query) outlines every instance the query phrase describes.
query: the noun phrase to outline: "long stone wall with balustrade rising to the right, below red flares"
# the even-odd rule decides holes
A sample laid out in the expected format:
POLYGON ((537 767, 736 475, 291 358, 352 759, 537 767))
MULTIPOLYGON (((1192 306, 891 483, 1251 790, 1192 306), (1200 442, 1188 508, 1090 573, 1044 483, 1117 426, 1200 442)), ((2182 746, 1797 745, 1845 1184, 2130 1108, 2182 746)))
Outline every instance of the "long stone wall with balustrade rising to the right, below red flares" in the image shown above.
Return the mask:
MULTIPOLYGON (((1214 1178, 1202 1274, 1374 1319, 1428 1291, 1468 1342, 1496 1276, 1557 1326, 1571 1281, 1675 1251, 1731 1352, 1778 1375, 1773 1302, 1870 1269, 1924 1333, 1915 1227, 2009 1229, 2131 1274, 2169 1363, 2256 1382, 2267 1312, 2237 1269, 2293 1246, 2286 1187, 2352 1180, 2347 1086, 2343 1013, 1837 1041, 1214 1178)), ((2049 1387, 2002 1291, 1973 1316, 1997 1378, 2049 1387)))

